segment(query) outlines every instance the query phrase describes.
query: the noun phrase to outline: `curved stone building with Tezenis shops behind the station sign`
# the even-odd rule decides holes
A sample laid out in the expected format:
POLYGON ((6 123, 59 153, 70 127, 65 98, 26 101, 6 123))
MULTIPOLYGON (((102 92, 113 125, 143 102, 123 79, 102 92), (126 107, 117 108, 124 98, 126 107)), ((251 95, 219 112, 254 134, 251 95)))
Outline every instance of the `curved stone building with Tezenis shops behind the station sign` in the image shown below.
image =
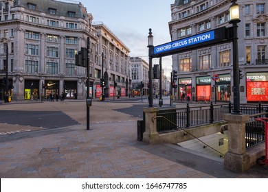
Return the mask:
MULTIPOLYGON (((237 1, 241 103, 268 101, 268 2, 237 1)), ((172 40, 186 38, 219 27, 231 27, 230 1, 175 1, 171 5, 172 40)), ((185 93, 192 100, 233 100, 232 43, 204 47, 172 56, 178 71, 177 98, 185 93), (219 75, 219 80, 212 80, 219 75)))

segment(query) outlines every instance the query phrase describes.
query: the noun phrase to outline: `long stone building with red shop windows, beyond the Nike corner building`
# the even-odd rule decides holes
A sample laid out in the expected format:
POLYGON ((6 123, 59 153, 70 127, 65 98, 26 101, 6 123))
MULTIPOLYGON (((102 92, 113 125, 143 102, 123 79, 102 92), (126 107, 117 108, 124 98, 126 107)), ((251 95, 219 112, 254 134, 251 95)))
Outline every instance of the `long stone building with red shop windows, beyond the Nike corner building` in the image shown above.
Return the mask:
POLYGON ((104 23, 93 23, 98 34, 98 53, 104 54, 102 71, 102 57, 96 56, 94 74, 96 78, 96 97, 101 95, 100 78, 106 82, 104 88, 105 97, 129 96, 130 78, 130 50, 122 41, 104 25, 104 23), (117 85, 116 87, 114 85, 117 85))

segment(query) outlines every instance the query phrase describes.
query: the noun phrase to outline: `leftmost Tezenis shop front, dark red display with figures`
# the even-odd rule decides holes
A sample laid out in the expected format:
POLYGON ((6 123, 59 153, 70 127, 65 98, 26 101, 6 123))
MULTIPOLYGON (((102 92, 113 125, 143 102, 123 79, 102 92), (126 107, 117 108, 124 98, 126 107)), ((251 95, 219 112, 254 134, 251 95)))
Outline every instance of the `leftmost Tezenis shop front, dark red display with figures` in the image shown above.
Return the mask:
POLYGON ((178 90, 181 101, 192 100, 192 79, 190 77, 178 79, 178 90))

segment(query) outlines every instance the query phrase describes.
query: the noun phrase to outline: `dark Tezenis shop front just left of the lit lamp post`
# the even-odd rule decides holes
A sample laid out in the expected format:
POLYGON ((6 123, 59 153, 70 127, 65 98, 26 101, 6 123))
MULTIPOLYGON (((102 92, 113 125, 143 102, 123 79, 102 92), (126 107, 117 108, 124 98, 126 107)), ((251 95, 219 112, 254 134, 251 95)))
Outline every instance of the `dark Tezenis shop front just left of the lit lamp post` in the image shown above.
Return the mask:
POLYGON ((231 75, 219 75, 215 81, 216 101, 230 101, 231 97, 231 75))

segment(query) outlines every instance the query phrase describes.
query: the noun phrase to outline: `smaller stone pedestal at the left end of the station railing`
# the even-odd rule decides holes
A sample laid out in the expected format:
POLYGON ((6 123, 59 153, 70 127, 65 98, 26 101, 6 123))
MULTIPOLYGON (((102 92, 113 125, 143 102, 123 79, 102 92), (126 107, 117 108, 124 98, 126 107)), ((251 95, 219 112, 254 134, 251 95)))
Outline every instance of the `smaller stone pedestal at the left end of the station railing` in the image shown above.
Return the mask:
POLYGON ((159 108, 144 108, 145 113, 145 132, 143 135, 143 141, 146 143, 159 143, 159 134, 157 132, 157 112, 159 108))

